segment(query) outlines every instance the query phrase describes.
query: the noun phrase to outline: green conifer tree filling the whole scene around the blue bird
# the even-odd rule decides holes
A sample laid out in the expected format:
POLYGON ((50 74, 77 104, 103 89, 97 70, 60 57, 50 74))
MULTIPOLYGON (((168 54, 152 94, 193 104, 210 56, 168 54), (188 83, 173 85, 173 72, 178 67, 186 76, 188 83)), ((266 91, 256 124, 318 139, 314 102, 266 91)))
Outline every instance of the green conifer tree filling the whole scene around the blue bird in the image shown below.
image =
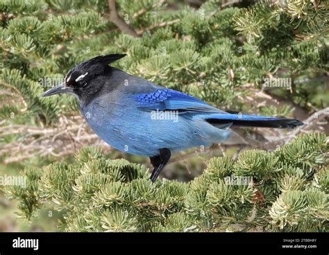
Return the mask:
POLYGON ((12 191, 24 218, 47 200, 67 212, 65 231, 328 228, 325 135, 282 146, 298 132, 328 132, 325 1, 0 0, 0 22, 0 173, 26 169, 28 186, 12 191), (108 160, 117 152, 90 132, 73 98, 40 98, 78 62, 109 53, 127 54, 115 63, 120 69, 223 110, 301 114, 307 125, 287 135, 246 130, 244 137, 257 138, 250 148, 282 147, 214 157, 188 184, 151 186, 143 166, 108 160), (85 148, 95 143, 108 157, 85 148), (227 186, 231 173, 256 184, 227 186))

